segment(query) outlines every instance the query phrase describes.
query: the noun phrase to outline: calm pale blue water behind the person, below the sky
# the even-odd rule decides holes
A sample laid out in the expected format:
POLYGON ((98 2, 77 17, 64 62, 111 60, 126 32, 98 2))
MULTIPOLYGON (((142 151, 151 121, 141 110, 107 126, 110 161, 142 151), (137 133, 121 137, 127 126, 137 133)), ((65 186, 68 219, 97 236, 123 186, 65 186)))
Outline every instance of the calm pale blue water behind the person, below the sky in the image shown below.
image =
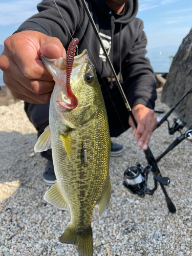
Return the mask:
MULTIPOLYGON (((155 72, 168 73, 172 58, 177 52, 176 46, 153 48, 147 50, 146 57, 150 59, 151 65, 155 72)), ((3 52, 3 46, 0 46, 0 54, 3 52)), ((3 72, 0 70, 0 86, 3 86, 3 72)))

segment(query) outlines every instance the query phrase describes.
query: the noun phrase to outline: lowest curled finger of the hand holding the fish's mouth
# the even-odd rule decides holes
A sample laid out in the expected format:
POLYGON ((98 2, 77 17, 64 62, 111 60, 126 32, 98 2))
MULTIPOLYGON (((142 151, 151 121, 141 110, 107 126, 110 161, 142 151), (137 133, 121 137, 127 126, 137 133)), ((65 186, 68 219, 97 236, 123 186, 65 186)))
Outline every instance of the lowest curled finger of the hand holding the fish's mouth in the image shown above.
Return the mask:
POLYGON ((15 81, 12 77, 8 77, 7 74, 4 74, 4 82, 9 81, 9 89, 13 97, 25 100, 30 103, 47 103, 50 101, 51 92, 44 94, 36 94, 29 91, 27 88, 23 87, 22 84, 15 81))

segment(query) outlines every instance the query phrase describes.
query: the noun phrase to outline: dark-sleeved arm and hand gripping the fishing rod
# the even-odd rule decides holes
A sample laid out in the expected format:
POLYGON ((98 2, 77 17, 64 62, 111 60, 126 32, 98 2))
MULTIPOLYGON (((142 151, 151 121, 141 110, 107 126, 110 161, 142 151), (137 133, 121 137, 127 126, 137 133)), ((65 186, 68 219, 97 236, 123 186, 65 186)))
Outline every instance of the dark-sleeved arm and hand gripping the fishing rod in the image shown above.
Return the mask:
POLYGON ((129 123, 132 126, 133 135, 138 139, 137 144, 146 150, 157 125, 157 118, 153 111, 157 98, 156 80, 150 61, 145 57, 147 39, 143 31, 143 23, 140 19, 136 19, 135 22, 138 24, 138 29, 135 33, 134 46, 122 63, 122 75, 125 95, 138 123, 137 129, 131 117, 129 123))

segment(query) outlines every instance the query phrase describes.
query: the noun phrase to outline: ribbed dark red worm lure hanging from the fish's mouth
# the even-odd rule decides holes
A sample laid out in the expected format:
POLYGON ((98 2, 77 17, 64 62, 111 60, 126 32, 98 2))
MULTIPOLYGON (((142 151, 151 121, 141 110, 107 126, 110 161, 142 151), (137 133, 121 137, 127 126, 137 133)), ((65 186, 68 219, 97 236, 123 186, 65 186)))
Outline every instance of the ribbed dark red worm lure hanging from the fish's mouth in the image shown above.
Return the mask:
POLYGON ((63 106, 66 109, 70 109, 73 110, 76 108, 76 106, 78 105, 78 100, 76 98, 76 96, 73 94, 73 92, 71 91, 71 85, 70 85, 70 79, 71 79, 71 73, 72 73, 72 68, 73 68, 73 62, 74 62, 74 57, 75 57, 75 50, 76 50, 76 46, 78 45, 79 39, 78 38, 74 38, 68 47, 68 51, 67 51, 67 56, 66 56, 66 84, 67 84, 67 93, 68 93, 68 97, 71 100, 71 103, 68 104, 65 101, 58 101, 56 100, 56 102, 63 106))

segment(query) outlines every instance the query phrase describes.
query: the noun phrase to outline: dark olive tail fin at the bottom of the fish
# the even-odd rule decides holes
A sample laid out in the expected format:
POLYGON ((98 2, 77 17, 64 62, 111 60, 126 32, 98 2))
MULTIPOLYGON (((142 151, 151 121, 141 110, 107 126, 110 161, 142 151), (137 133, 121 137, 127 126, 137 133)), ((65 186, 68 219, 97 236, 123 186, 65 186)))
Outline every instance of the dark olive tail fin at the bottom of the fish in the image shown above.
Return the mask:
POLYGON ((74 244, 79 256, 93 256, 93 232, 91 226, 87 232, 77 234, 76 230, 71 228, 69 224, 59 241, 65 244, 74 244))

